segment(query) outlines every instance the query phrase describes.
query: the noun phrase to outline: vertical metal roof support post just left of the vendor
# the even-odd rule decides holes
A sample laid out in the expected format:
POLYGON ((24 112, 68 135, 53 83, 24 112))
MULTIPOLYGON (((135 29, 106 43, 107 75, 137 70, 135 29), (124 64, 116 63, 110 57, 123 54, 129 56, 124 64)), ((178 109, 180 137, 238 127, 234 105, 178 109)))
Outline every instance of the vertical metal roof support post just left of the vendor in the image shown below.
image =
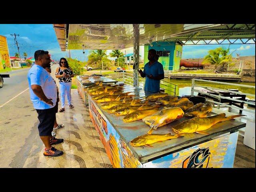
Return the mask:
POLYGON ((133 86, 139 86, 139 59, 140 59, 140 31, 139 24, 133 24, 133 50, 134 50, 134 70, 133 70, 133 86))

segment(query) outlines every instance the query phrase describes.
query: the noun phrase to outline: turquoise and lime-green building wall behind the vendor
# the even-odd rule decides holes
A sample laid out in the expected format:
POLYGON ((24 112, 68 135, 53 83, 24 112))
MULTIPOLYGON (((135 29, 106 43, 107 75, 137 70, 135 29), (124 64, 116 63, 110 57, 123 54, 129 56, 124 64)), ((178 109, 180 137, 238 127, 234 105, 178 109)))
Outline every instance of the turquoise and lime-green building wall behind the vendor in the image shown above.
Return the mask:
POLYGON ((169 57, 160 57, 158 62, 160 62, 164 70, 174 70, 174 52, 175 52, 175 42, 152 42, 153 47, 150 45, 144 46, 144 64, 148 62, 148 50, 154 49, 156 51, 170 51, 169 57))

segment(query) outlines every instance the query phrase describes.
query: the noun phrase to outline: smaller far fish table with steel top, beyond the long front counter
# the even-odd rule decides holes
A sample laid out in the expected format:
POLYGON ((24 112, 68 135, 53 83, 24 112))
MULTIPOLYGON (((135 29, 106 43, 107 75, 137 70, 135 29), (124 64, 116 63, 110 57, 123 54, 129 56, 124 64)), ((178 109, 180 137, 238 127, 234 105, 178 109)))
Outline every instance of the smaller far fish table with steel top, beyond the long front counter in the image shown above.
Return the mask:
POLYGON ((82 82, 82 76, 83 75, 76 76, 76 84, 77 84, 77 91, 80 94, 80 96, 82 97, 86 106, 88 106, 88 97, 87 97, 87 94, 85 94, 85 92, 84 92, 84 88, 94 84, 96 81, 102 81, 103 84, 117 83, 116 80, 106 78, 104 76, 100 76, 100 78, 90 77, 90 78, 86 79, 86 82, 82 82))

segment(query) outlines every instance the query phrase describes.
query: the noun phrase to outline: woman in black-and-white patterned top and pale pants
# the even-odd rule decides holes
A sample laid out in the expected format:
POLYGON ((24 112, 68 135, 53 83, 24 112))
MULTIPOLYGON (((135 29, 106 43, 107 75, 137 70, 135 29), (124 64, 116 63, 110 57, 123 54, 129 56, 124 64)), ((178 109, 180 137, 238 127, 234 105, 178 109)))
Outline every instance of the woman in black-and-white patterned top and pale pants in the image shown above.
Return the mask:
POLYGON ((55 76, 59 79, 60 82, 61 109, 59 110, 59 112, 63 112, 65 110, 64 107, 66 94, 68 97, 69 107, 74 108, 74 106, 71 104, 71 85, 74 73, 72 71, 72 68, 68 66, 68 61, 66 60, 66 58, 60 58, 60 67, 56 69, 55 76))

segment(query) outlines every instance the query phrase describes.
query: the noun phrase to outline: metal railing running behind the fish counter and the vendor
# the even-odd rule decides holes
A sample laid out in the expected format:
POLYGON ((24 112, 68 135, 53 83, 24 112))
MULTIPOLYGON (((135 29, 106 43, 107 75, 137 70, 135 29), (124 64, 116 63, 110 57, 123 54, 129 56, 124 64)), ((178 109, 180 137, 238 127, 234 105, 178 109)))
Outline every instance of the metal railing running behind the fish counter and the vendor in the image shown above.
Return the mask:
MULTIPOLYGON (((118 81, 123 81, 125 84, 133 85, 133 73, 121 72, 121 73, 111 73, 107 74, 106 77, 116 79, 118 81)), ((139 87, 144 88, 145 78, 139 76, 139 87)), ((176 89, 178 85, 172 84, 165 80, 160 80, 160 88, 171 95, 176 95, 176 89)))

